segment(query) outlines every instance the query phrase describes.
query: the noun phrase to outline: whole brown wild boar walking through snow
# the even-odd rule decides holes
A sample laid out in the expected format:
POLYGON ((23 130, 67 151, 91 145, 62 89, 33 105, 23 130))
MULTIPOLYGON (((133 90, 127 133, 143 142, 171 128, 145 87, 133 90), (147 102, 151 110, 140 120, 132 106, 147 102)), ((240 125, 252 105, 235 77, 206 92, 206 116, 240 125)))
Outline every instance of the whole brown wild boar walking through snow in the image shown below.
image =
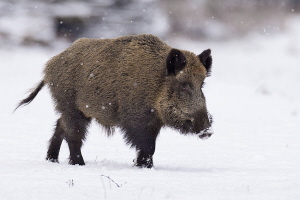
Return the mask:
POLYGON ((161 127, 211 135, 201 90, 211 62, 210 50, 196 56, 152 35, 83 38, 47 62, 44 80, 19 106, 30 103, 44 84, 50 88, 61 117, 47 160, 58 162, 66 139, 70 164, 84 165, 82 141, 94 118, 108 134, 121 128, 126 142, 137 149, 135 165, 151 168, 161 127))

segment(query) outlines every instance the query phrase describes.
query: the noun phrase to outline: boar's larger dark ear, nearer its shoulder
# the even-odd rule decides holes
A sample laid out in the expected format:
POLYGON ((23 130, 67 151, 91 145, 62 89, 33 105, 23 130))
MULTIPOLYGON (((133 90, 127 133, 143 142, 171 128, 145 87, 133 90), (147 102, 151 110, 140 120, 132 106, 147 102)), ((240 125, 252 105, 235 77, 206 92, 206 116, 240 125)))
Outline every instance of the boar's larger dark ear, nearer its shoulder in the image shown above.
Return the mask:
POLYGON ((167 56, 167 75, 176 75, 186 65, 183 53, 178 49, 172 49, 167 56))

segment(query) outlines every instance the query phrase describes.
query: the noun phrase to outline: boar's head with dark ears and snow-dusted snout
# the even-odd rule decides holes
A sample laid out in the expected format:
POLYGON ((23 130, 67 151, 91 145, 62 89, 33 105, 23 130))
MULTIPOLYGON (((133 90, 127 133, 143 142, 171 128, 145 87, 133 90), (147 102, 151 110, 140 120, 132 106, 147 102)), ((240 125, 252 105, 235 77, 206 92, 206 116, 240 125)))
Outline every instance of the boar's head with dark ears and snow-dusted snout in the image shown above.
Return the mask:
POLYGON ((202 92, 211 64, 210 49, 198 56, 178 49, 170 51, 166 58, 165 82, 157 101, 164 125, 183 134, 198 134, 202 139, 212 135, 212 117, 202 92))

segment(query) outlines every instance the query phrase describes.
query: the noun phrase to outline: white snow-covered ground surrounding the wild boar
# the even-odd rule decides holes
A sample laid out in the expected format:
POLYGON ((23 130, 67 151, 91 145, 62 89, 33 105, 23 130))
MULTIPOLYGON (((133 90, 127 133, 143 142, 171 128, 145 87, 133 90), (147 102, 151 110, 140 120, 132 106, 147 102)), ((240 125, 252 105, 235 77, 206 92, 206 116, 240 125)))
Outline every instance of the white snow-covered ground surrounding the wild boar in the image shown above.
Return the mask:
POLYGON ((133 168, 135 151, 96 123, 83 147, 85 166, 45 161, 57 118, 47 89, 12 113, 62 49, 0 50, 0 196, 11 199, 299 199, 300 18, 280 35, 230 42, 168 41, 212 49, 204 92, 214 116, 208 140, 163 129, 155 169, 133 168), (110 179, 108 178, 110 177, 110 179))

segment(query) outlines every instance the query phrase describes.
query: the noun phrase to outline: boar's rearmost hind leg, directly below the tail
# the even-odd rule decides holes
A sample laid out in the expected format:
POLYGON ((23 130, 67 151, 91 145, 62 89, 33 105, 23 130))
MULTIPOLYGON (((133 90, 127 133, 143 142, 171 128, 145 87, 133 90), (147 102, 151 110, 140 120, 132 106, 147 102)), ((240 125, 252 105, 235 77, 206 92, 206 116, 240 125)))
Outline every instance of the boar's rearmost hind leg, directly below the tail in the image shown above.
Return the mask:
POLYGON ((57 120, 54 134, 49 141, 49 148, 48 148, 46 160, 49 160, 51 162, 58 162, 59 150, 60 150, 62 140, 64 139, 64 136, 65 136, 65 132, 61 127, 61 122, 59 119, 57 120))

